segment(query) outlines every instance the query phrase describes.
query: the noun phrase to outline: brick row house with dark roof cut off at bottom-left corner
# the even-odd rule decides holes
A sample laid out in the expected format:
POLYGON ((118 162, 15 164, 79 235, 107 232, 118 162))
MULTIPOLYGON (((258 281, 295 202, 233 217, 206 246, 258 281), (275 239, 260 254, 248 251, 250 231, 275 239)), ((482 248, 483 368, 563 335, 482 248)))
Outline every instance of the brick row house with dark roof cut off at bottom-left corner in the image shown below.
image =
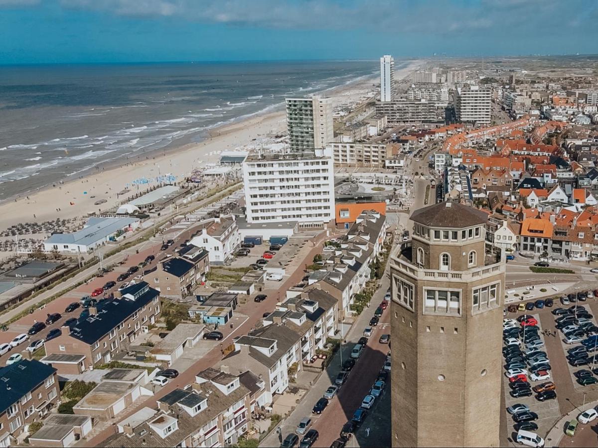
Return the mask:
POLYGON ((0 379, 0 447, 17 446, 26 428, 60 400, 56 369, 24 359, 0 368, 0 379))

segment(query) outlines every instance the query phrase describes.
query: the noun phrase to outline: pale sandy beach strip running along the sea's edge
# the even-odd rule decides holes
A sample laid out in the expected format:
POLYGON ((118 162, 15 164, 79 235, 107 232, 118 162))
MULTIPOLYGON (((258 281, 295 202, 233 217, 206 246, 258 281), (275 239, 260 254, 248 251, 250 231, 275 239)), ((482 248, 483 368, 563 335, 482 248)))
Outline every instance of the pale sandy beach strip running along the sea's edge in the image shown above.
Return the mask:
MULTIPOLYGON (((413 61, 403 69, 396 70, 395 77, 404 78, 421 64, 422 61, 413 61)), ((333 99, 335 105, 339 105, 363 98, 368 92, 376 90, 377 82, 376 77, 362 79, 328 90, 325 94, 333 99)), ((133 179, 155 178, 158 173, 162 175, 170 173, 182 180, 194 168, 217 162, 218 153, 221 151, 242 149, 243 145, 250 145, 253 139, 263 139, 267 134, 280 133, 285 129, 285 111, 256 115, 215 128, 211 137, 201 143, 170 149, 164 154, 151 156, 149 159, 129 160, 128 164, 96 171, 83 179, 69 180, 62 185, 56 184, 55 187, 31 193, 28 197, 0 204, 0 216, 2 216, 0 228, 5 229, 16 223, 42 222, 57 217, 66 219, 107 210, 118 201, 117 192, 122 191, 133 179), (106 200, 106 202, 102 205, 94 205, 94 202, 99 200, 106 200)), ((135 187, 129 188, 133 192, 135 187)), ((147 186, 141 187, 141 191, 145 189, 147 186)))

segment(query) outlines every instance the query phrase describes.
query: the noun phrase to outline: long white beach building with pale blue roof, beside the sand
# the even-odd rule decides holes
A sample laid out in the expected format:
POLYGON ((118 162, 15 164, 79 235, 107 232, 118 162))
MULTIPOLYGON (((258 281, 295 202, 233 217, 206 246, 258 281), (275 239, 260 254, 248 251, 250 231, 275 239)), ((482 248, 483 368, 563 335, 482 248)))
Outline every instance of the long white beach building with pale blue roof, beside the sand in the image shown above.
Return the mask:
POLYGON ((78 253, 93 250, 124 232, 139 227, 139 219, 133 217, 90 217, 83 229, 72 234, 54 234, 44 243, 45 252, 78 253))

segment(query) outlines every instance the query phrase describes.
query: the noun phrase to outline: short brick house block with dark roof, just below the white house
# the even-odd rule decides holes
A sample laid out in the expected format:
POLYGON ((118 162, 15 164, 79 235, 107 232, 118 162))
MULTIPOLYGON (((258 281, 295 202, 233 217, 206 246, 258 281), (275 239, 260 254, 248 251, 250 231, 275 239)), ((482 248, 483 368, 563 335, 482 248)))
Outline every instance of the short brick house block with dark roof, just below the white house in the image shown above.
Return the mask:
MULTIPOLYGON (((160 260, 151 273, 152 286, 163 297, 182 299, 206 281, 210 271, 209 253, 203 247, 187 244, 173 258, 160 260)), ((149 277, 149 276, 148 276, 149 277)))

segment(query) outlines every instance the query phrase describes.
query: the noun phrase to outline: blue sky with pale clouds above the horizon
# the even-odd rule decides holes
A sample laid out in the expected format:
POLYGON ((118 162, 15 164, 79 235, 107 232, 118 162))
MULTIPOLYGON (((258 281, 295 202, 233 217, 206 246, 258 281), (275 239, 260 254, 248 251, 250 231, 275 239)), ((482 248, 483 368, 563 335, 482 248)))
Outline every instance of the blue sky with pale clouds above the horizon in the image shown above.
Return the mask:
POLYGON ((596 54, 597 0, 0 0, 0 64, 596 54))

